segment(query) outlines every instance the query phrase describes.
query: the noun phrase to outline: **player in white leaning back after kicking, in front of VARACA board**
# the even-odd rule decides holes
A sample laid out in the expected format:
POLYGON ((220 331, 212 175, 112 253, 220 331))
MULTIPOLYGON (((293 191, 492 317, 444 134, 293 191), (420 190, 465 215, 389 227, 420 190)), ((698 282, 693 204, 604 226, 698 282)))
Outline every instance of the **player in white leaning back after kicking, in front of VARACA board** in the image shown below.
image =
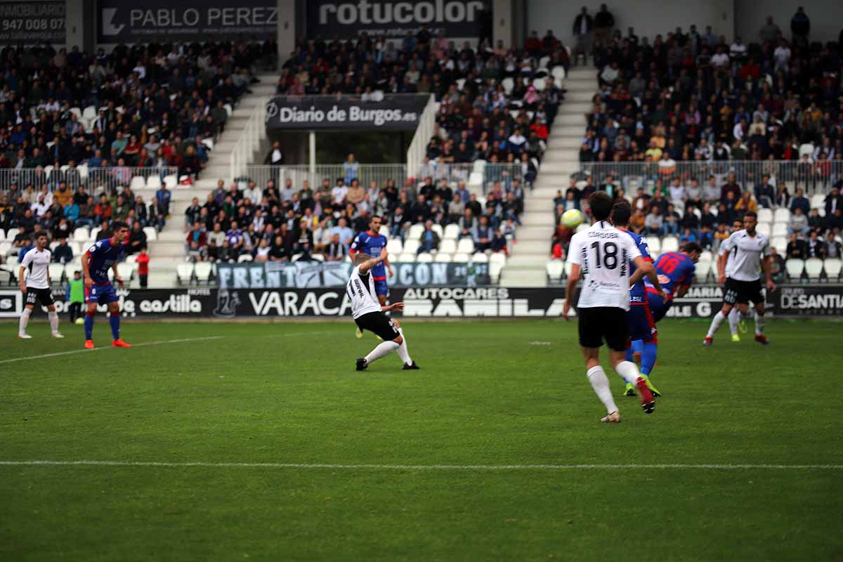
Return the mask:
POLYGON ((386 258, 385 248, 381 250, 377 258, 362 253, 355 254, 355 268, 346 284, 346 293, 352 301, 352 318, 355 324, 360 329, 368 329, 384 340, 368 356, 357 358, 357 371, 365 370, 373 361, 388 356, 393 351, 398 351, 401 361, 404 362, 405 371, 419 368, 416 361, 411 359, 410 352, 407 351, 404 330, 395 318, 389 318, 385 314, 393 311, 400 312, 404 309, 404 303, 393 302, 387 306, 378 302, 372 268, 386 258))

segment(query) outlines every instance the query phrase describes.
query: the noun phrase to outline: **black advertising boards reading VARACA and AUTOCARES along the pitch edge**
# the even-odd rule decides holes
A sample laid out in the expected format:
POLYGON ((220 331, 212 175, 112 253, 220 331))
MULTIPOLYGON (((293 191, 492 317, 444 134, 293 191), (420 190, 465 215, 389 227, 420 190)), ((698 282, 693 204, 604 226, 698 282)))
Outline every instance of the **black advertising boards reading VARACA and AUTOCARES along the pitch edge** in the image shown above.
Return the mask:
MULTIPOLYGON (((339 318, 351 306, 342 287, 322 289, 237 289, 216 287, 119 290, 125 318, 339 318)), ((692 286, 676 299, 671 318, 710 318, 722 303, 722 287, 692 286)), ((64 292, 54 292, 56 309, 67 312, 64 292)), ((408 287, 394 288, 390 298, 404 302, 404 318, 559 318, 563 287, 408 287)), ((23 310, 19 291, 0 290, 0 318, 18 318, 23 310)), ((105 313, 105 307, 100 307, 105 313)), ((771 316, 843 317, 843 285, 780 286, 767 295, 771 316)), ((350 319, 350 318, 348 318, 350 319)))

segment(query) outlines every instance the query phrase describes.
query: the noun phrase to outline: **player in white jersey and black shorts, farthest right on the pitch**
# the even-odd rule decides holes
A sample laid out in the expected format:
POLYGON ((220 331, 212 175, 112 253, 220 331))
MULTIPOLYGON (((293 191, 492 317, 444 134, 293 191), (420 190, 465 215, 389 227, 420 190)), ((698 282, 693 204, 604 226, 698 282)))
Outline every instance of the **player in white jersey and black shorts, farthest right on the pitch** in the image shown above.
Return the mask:
POLYGON ((770 278, 770 240, 755 231, 758 216, 749 211, 744 215, 744 229, 726 238, 717 256, 717 282, 723 284, 723 308, 711 320, 702 345, 714 343, 714 334, 720 328, 735 304, 741 313, 747 313, 749 301, 755 307, 755 341, 768 345, 764 335, 764 295, 761 293, 760 270, 764 269, 767 290, 776 291, 770 278), (763 258, 763 260, 762 260, 763 258))

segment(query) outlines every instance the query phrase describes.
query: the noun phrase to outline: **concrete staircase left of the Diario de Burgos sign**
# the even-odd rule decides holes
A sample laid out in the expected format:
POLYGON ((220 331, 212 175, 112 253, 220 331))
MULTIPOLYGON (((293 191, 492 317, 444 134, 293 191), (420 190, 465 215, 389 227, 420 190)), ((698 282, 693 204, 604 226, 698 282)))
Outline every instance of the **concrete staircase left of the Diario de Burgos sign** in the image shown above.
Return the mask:
MULTIPOLYGON (((149 286, 174 286, 176 265, 185 260, 185 219, 184 213, 194 197, 200 203, 205 202, 208 192, 216 189, 217 181, 223 179, 228 189, 231 181, 231 153, 234 145, 242 134, 246 122, 249 120, 255 106, 262 99, 275 94, 277 73, 260 74, 260 83, 250 86, 251 94, 244 95, 237 104, 234 112, 228 116, 225 131, 217 139, 208 158, 206 167, 202 170, 200 179, 191 187, 177 186, 173 190, 170 203, 170 219, 158 239, 149 243, 150 275, 149 286)), ((262 161, 263 154, 255 154, 255 161, 262 161)), ((153 201, 155 190, 136 190, 142 195, 143 201, 153 201)))

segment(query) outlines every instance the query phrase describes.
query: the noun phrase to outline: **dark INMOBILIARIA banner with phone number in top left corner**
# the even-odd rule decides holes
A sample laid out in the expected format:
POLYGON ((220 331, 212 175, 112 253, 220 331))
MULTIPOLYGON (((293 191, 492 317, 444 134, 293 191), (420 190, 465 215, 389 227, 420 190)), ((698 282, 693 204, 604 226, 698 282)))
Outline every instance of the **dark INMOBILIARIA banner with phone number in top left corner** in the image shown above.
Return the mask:
POLYGON ((0 3, 0 44, 64 45, 65 2, 0 3))

